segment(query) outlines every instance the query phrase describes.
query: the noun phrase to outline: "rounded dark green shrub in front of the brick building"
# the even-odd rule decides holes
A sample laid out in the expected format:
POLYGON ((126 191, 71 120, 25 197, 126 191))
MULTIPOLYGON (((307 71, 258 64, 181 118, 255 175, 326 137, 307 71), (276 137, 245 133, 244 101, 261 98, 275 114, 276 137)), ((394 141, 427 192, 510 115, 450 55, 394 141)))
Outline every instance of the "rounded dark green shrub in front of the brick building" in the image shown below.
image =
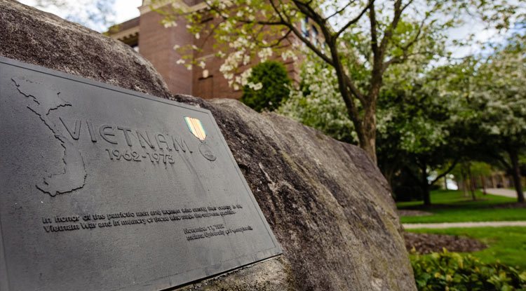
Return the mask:
POLYGON ((290 79, 281 62, 267 61, 252 67, 248 82, 252 86, 243 86, 241 102, 255 111, 274 111, 288 98, 290 79), (261 85, 258 86, 259 83, 261 85))

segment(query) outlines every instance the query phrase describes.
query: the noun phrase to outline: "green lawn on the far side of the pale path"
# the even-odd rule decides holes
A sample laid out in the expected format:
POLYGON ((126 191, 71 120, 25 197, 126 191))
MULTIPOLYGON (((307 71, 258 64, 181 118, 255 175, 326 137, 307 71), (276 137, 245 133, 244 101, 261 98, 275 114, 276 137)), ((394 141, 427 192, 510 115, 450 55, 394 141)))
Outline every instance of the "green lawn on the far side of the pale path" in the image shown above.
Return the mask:
POLYGON ((476 191, 477 201, 465 197, 462 191, 431 191, 434 208, 424 209, 422 201, 396 203, 399 209, 422 209, 434 215, 400 217, 402 223, 438 222, 495 222, 526 220, 526 208, 488 208, 504 203, 515 203, 517 199, 497 195, 483 195, 476 191))

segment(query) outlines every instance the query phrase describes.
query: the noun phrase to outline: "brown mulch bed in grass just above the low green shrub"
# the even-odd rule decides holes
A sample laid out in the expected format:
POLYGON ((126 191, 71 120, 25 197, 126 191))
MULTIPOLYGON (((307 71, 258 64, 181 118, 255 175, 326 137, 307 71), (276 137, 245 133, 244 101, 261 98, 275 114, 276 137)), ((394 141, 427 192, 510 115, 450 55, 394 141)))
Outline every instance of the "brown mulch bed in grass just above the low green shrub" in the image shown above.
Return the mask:
POLYGON ((447 234, 416 234, 405 232, 405 248, 411 252, 414 248, 422 255, 431 252, 442 252, 446 248, 450 252, 476 252, 484 250, 487 245, 475 238, 450 236, 447 234))

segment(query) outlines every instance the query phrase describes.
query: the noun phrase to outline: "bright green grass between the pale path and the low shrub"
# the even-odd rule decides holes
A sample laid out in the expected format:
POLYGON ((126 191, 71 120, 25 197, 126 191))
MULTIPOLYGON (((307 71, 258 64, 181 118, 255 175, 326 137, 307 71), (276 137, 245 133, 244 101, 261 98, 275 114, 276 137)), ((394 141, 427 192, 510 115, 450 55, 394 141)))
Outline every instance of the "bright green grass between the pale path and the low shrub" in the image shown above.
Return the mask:
POLYGON ((411 229, 411 232, 427 234, 450 234, 477 238, 490 248, 473 252, 471 255, 481 261, 500 262, 508 266, 526 269, 526 227, 472 227, 455 229, 411 229))

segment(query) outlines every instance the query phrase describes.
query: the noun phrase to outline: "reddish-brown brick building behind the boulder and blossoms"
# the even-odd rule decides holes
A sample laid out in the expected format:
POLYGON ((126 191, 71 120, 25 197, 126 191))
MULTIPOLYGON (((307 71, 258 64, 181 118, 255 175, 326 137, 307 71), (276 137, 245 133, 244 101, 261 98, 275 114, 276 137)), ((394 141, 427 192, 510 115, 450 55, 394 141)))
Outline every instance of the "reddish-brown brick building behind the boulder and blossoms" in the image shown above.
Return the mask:
MULTIPOLYGON (((205 4, 201 0, 182 0, 180 7, 185 10, 205 11, 205 4)), ((123 22, 109 30, 108 34, 114 39, 119 39, 132 46, 141 55, 147 58, 159 71, 168 84, 172 93, 180 93, 210 98, 234 98, 241 97, 243 91, 234 90, 228 85, 220 72, 223 60, 215 56, 213 37, 201 37, 196 39, 194 35, 187 32, 186 20, 177 20, 177 26, 166 28, 161 24, 163 15, 151 11, 149 0, 143 0, 139 7, 140 16, 123 22), (174 46, 195 45, 201 48, 201 52, 194 53, 194 57, 205 58, 205 69, 194 66, 191 71, 184 65, 177 64, 182 55, 174 50, 174 46)), ((205 21, 216 21, 213 18, 205 18, 205 21)), ((302 29, 306 25, 302 24, 302 29)), ((308 33, 308 32, 306 32, 308 33)), ((281 60, 281 58, 279 59, 281 60)), ((283 61, 283 60, 281 60, 283 61)), ((287 67, 289 76, 293 80, 298 79, 298 66, 293 60, 283 62, 287 67)), ((241 67, 243 72, 249 64, 241 67)))

